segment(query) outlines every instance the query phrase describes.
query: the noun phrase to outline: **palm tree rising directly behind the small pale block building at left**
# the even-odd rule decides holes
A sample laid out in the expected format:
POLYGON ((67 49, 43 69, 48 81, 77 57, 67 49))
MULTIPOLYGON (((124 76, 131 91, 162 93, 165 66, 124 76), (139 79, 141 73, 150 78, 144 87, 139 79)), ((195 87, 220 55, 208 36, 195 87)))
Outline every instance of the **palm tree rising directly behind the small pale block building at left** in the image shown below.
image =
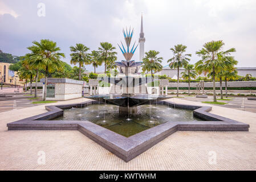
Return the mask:
POLYGON ((88 57, 88 54, 86 53, 89 49, 90 48, 84 46, 84 44, 76 44, 75 47, 70 47, 70 51, 72 52, 70 54, 70 63, 79 64, 79 80, 81 80, 81 67, 83 67, 84 64, 90 64, 90 59, 88 57))

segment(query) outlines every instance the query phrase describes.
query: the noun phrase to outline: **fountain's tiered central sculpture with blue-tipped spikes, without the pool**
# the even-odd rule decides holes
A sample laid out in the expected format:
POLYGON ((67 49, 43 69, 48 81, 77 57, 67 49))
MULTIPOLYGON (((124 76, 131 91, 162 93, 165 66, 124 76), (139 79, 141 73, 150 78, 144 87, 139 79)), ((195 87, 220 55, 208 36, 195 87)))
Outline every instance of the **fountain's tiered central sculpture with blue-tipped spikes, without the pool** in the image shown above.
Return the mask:
MULTIPOLYGON (((94 84, 94 87, 99 87, 99 81, 105 82, 108 84, 112 84, 112 88, 110 90, 116 90, 116 87, 121 88, 121 93, 109 93, 107 94, 94 94, 92 96, 86 97, 90 98, 91 100, 112 104, 119 106, 119 113, 121 114, 137 114, 137 106, 150 104, 150 103, 157 103, 161 100, 166 100, 167 98, 167 88, 165 90, 165 95, 160 95, 160 91, 155 91, 155 94, 148 94, 148 84, 151 82, 159 84, 158 77, 137 77, 136 73, 138 73, 139 68, 141 66, 141 62, 136 62, 135 60, 131 60, 133 54, 135 53, 137 46, 135 47, 136 42, 130 48, 133 30, 129 28, 129 31, 123 29, 124 40, 127 48, 124 48, 124 44, 121 42, 121 46, 118 44, 121 52, 124 55, 125 60, 120 62, 115 62, 117 68, 119 68, 120 73, 124 73, 125 76, 123 77, 98 77, 97 84, 94 84)), ((95 80, 90 80, 90 82, 95 82, 95 80)), ((92 88, 92 87, 91 87, 92 88)), ((164 89, 162 89, 163 91, 164 89)), ((96 93, 96 92, 94 92, 96 93)))

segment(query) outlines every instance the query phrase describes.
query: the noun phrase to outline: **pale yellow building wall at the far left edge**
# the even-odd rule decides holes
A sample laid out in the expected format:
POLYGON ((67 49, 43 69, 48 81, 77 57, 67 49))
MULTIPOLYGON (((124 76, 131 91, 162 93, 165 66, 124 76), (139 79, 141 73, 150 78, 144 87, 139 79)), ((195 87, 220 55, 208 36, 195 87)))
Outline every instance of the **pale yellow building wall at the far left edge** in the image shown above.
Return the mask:
MULTIPOLYGON (((1 72, 0 78, 3 77, 3 74, 4 74, 3 71, 4 71, 5 66, 6 66, 6 73, 5 73, 6 74, 6 80, 5 80, 5 82, 3 82, 3 84, 12 84, 12 85, 14 85, 15 84, 15 76, 18 76, 18 75, 17 75, 17 72, 14 72, 14 77, 9 76, 9 66, 10 66, 9 63, 0 63, 0 72, 1 72)), ((0 80, 0 82, 1 81, 2 80, 0 80)), ((16 85, 23 86, 23 81, 20 81, 19 77, 16 78, 16 85)))

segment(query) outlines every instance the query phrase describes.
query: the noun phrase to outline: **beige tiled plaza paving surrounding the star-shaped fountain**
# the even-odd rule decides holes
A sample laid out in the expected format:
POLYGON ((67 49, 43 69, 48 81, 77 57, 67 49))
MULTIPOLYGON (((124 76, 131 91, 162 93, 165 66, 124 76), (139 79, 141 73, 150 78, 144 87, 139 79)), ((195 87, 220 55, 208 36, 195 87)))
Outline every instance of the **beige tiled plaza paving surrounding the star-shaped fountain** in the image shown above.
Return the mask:
POLYGON ((210 113, 248 123, 249 132, 178 131, 125 163, 79 131, 7 131, 7 123, 45 113, 44 106, 1 113, 0 170, 256 170, 256 113, 214 105, 210 113), (42 152, 45 164, 38 163, 42 152))

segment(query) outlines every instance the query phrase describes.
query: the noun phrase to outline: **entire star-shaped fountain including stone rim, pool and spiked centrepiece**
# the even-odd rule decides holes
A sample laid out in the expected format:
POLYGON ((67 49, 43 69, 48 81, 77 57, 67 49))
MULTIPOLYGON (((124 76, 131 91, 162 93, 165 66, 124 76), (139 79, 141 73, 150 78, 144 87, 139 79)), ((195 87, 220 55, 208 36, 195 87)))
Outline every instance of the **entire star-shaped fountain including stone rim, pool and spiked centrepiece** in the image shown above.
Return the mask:
POLYGON ((131 60, 137 46, 129 49, 133 31, 123 33, 127 49, 119 47, 125 60, 115 64, 124 76, 90 80, 90 100, 46 105, 47 113, 8 123, 8 130, 78 130, 125 162, 176 131, 249 131, 246 123, 209 113, 210 106, 166 100, 168 80, 137 76, 141 63, 131 60))

